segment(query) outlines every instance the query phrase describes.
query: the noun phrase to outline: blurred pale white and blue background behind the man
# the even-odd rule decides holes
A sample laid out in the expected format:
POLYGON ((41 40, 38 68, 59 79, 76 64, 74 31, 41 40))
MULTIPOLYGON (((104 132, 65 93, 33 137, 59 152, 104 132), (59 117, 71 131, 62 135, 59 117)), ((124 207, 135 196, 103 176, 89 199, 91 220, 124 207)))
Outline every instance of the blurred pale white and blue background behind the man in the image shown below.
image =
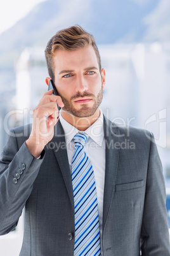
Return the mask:
MULTIPOLYGON (((169 13, 169 0, 1 2, 0 151, 11 128, 32 122, 32 110, 47 90, 44 48, 49 39, 80 24, 95 36, 106 69, 103 113, 155 135, 170 227, 169 13)), ((15 231, 0 237, 2 256, 19 254, 22 232, 23 217, 15 231)))

